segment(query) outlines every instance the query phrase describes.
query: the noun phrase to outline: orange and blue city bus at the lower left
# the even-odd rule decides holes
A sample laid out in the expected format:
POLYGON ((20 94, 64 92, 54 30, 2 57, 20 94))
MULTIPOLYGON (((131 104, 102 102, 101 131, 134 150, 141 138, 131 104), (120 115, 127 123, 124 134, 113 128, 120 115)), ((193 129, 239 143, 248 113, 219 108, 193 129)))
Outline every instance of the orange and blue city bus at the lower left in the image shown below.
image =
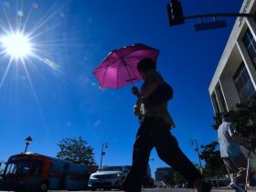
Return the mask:
POLYGON ((85 190, 90 174, 88 166, 75 165, 46 155, 12 155, 5 165, 1 190, 85 190))

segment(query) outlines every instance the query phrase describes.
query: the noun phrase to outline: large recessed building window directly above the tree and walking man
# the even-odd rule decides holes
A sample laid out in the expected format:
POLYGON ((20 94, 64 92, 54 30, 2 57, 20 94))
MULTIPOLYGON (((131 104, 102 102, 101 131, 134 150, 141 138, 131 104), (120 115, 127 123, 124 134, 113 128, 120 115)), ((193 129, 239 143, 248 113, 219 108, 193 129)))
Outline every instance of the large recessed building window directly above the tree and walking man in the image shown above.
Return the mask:
POLYGON ((245 103, 251 101, 252 96, 255 94, 255 88, 251 82, 251 78, 244 63, 240 65, 240 68, 235 73, 233 80, 240 96, 240 101, 245 103))

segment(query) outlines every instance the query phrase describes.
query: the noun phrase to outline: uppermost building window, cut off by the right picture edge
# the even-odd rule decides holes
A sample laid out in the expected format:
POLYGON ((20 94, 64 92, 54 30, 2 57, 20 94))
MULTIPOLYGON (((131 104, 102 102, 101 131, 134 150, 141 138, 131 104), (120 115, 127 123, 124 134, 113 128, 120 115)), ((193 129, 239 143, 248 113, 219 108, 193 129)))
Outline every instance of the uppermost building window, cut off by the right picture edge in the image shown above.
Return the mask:
POLYGON ((251 34, 251 30, 248 28, 244 37, 243 37, 243 43, 249 53, 249 56, 251 58, 251 61, 256 68, 256 42, 251 34))

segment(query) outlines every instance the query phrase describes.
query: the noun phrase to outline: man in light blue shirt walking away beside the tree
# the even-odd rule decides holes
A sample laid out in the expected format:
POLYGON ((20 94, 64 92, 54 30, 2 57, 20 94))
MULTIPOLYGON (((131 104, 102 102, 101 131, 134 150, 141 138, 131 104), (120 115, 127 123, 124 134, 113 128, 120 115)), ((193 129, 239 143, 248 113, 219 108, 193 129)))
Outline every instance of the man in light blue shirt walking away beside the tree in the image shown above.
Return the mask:
POLYGON ((233 124, 229 112, 222 114, 222 123, 218 129, 220 157, 230 176, 229 186, 237 192, 243 192, 246 183, 247 159, 240 144, 247 146, 233 124))

